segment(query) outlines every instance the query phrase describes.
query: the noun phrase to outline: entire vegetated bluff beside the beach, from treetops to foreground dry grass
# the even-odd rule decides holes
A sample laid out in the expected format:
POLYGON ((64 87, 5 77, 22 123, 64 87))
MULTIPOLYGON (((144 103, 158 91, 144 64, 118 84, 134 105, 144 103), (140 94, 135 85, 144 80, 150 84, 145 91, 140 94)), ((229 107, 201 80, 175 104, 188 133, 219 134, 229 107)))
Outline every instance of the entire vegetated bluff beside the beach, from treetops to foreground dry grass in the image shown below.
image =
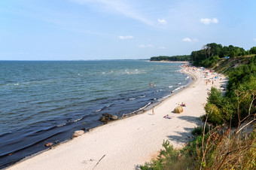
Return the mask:
POLYGON ((142 169, 256 169, 255 126, 251 134, 241 133, 256 120, 254 54, 256 47, 245 51, 215 43, 191 53, 194 65, 218 68, 229 77, 227 92, 223 96, 216 88, 211 89, 202 117, 205 123, 194 129, 194 138, 186 147, 175 150, 164 141, 158 158, 142 169), (221 59, 224 56, 230 59, 221 59))

